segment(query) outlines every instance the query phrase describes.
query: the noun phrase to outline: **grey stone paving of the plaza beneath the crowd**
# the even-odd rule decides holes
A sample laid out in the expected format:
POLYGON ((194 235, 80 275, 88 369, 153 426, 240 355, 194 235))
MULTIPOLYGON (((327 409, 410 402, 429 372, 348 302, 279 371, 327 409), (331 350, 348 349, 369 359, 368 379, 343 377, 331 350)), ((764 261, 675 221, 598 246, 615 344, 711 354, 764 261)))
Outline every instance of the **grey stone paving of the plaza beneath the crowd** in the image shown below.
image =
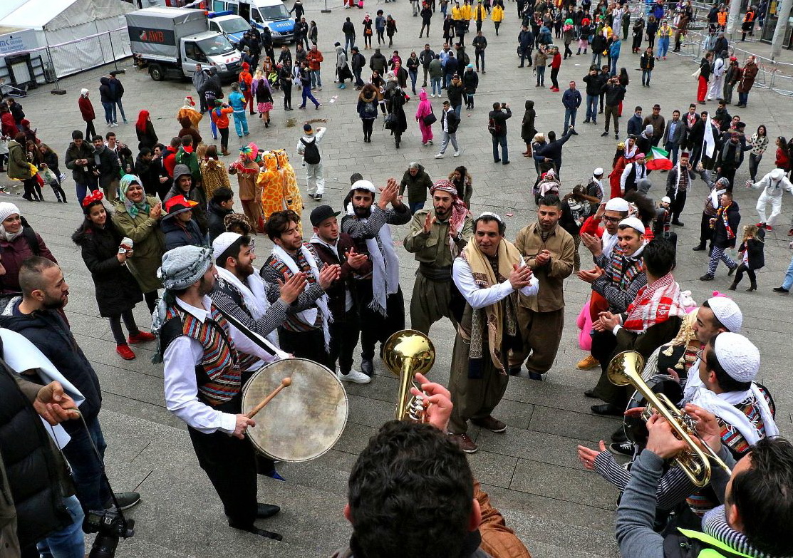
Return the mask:
MULTIPOLYGON (((327 118, 328 124, 320 124, 328 126, 322 144, 328 179, 324 203, 336 209, 340 208, 347 192, 351 173, 361 172, 376 185, 384 185, 389 177, 399 180, 408 162, 419 161, 433 179, 446 177, 458 164, 468 166, 473 174, 473 213, 477 215, 484 210, 499 212, 508 221, 508 239, 514 239, 520 227, 535 219, 530 192, 535 176, 534 165, 520 155, 525 149, 519 137, 523 103, 527 99, 534 99, 538 114, 537 128, 542 132, 551 129, 561 131, 564 111, 561 94, 535 88, 531 68, 517 68, 515 39, 519 22, 515 16, 514 3, 508 2, 499 37, 495 36, 491 21, 484 25, 489 43, 487 74, 480 75, 476 109, 463 113, 458 132, 462 156, 453 159, 449 152, 446 159, 442 160, 433 158, 440 143, 438 125, 435 125, 435 146, 421 145, 418 126, 412 118, 417 99, 405 107, 408 132, 403 136, 400 150, 395 149, 388 132, 381 132, 381 119, 375 124, 372 143, 362 143, 361 124, 355 112, 358 92, 350 86, 347 90, 338 90, 334 86, 332 69, 335 52, 332 45, 335 40, 343 40, 340 29, 346 16, 352 18, 358 33, 362 32, 360 21, 364 10, 335 8, 327 14, 320 13, 320 2, 305 4, 308 7, 307 19, 313 19, 319 25, 320 50, 325 56, 324 90, 316 93, 323 107, 315 111, 309 105, 305 113, 297 110, 300 98, 295 92, 293 105, 296 110, 284 113, 280 109, 281 94, 277 93, 275 105, 278 108, 272 113, 274 125, 266 130, 259 119, 254 117, 249 120, 252 141, 266 149, 285 147, 293 156, 301 185, 305 186, 305 174, 294 155, 297 139, 301 135, 301 119, 327 118), (508 102, 514 111, 508 123, 510 166, 492 162, 491 141, 486 125, 487 112, 493 101, 508 102)), ((416 35, 420 18, 411 17, 406 0, 391 6, 372 2, 367 7, 373 17, 377 9, 393 13, 399 29, 393 48, 400 51, 403 59, 408 58, 411 49, 418 52, 419 48, 423 48, 425 40, 416 35)), ((431 46, 436 52, 441 46, 440 23, 440 14, 437 13, 431 27, 431 46)), ((474 25, 471 25, 471 29, 474 29, 474 25)), ((472 38, 473 34, 466 36, 466 44, 470 44, 472 38)), ((626 42, 630 43, 630 39, 626 42)), ((744 44, 744 48, 749 50, 752 47, 752 43, 744 44)), ((758 48, 767 50, 765 45, 758 45, 758 48)), ((389 56, 391 50, 384 48, 383 53, 389 56)), ((363 52, 367 58, 372 54, 372 51, 363 52)), ((473 52, 469 54, 473 59, 473 52)), ((784 52, 783 60, 791 61, 793 55, 784 52)), ((583 90, 584 83, 580 79, 585 75, 588 63, 589 57, 584 55, 574 55, 572 59, 565 60, 559 75, 561 88, 564 89, 569 80, 574 79, 583 90)), ((145 71, 132 67, 130 60, 119 63, 119 66, 127 70, 120 78, 125 85, 124 103, 131 123, 121 124, 113 130, 136 153, 132 122, 136 120, 140 109, 147 109, 151 111, 160 141, 167 143, 170 136, 178 132, 174 115, 182 105, 182 98, 187 94, 195 94, 192 85, 186 81, 153 82, 145 71)), ((658 102, 662 114, 669 118, 672 109, 684 112, 688 104, 695 100, 695 81, 691 78, 691 72, 695 71, 696 66, 690 58, 670 53, 667 61, 658 62, 649 89, 638 85, 638 55, 630 54, 630 44, 623 44, 619 66, 626 67, 631 78, 624 103, 624 117, 620 122, 622 138, 626 119, 630 117, 634 105, 642 105, 647 114, 653 103, 658 102)), ((67 89, 65 96, 51 95, 48 88, 41 88, 21 99, 25 113, 33 126, 39 129, 40 137, 61 157, 71 130, 85 128, 77 108, 81 87, 91 90, 98 116, 98 131, 106 132, 98 98, 100 75, 101 71, 97 70, 67 78, 62 84, 67 89)), ((546 75, 546 85, 550 86, 550 75, 546 75)), ((439 114, 441 100, 432 101, 435 113, 439 114)), ((715 109, 714 103, 707 106, 708 109, 715 109)), ((730 109, 731 112, 736 110, 730 109)), ((573 136, 565 145, 562 169, 564 192, 572 189, 578 181, 588 178, 596 166, 603 166, 607 172, 611 170, 615 140, 613 136, 600 137, 602 120, 597 127, 580 124, 584 120, 584 112, 582 106, 577 127, 580 135, 573 136)), ((736 112, 747 123, 749 132, 757 129, 758 124, 765 124, 772 138, 793 133, 789 128, 793 117, 793 101, 789 97, 755 88, 749 97, 749 108, 737 109, 736 112)), ((211 139, 206 120, 201 123, 201 133, 205 139, 211 139)), ((232 132, 232 154, 236 153, 236 147, 238 142, 232 132)), ((773 147, 770 147, 761 162, 760 174, 772 169, 773 151, 773 147)), ((228 164, 233 159, 224 160, 228 164)), ((66 169, 62 167, 61 170, 66 169)), ((754 205, 758 193, 742 187, 748 178, 747 172, 745 163, 737 174, 735 187, 736 199, 741 206, 742 224, 755 223, 757 220, 754 205)), ((5 175, 0 176, 0 180, 7 182, 5 175)), ((666 175, 653 174, 651 178, 655 183, 651 193, 656 198, 663 196, 661 181, 665 181, 666 175)), ((236 183, 233 178, 232 183, 236 183)), ((71 298, 66 311, 72 330, 94 362, 102 381, 102 427, 109 445, 106 456, 109 477, 117 491, 134 489, 140 491, 143 497, 143 502, 130 514, 136 520, 136 536, 121 542, 117 556, 319 558, 345 545, 351 532, 342 514, 348 472, 370 435, 393 415, 397 396, 395 377, 383 367, 381 361, 376 361, 377 376, 371 384, 346 386, 350 417, 335 448, 310 463, 280 464, 278 471, 286 482, 270 479, 259 481, 260 500, 282 506, 281 514, 261 522, 261 525, 282 533, 283 542, 226 529, 220 502, 204 472, 198 467, 185 426, 164 407, 163 369, 161 365, 152 365, 149 361, 153 346, 136 347, 138 357, 134 361, 121 360, 113 350, 109 325, 98 315, 94 285, 79 250, 70 239, 71 232, 82 219, 82 213, 75 203, 71 176, 64 189, 69 197, 68 205, 54 203, 52 192, 45 192, 48 202, 40 204, 26 202, 18 194, 0 198, 19 205, 63 266, 71 285, 71 298)), ((680 237, 676 277, 684 289, 691 289, 698 301, 707 298, 714 289, 726 291, 730 285, 723 266, 718 269, 715 281, 702 283, 697 280, 704 273, 706 255, 692 252, 691 247, 699 237, 699 216, 705 191, 701 181, 695 182, 682 217, 686 226, 676 227, 680 237)), ((305 199, 305 226, 310 227, 308 212, 315 203, 308 197, 305 199)), ((239 202, 237 210, 241 211, 239 202)), ((787 376, 788 359, 791 357, 789 343, 793 327, 789 316, 793 299, 771 291, 772 287, 780 285, 793 254, 787 249, 790 239, 786 235, 793 199, 787 195, 783 210, 779 226, 766 237, 766 267, 758 274, 759 289, 757 292, 745 292, 743 289, 748 286, 748 280, 745 280, 745 285, 741 285, 734 297, 744 312, 744 332, 760 347, 763 355, 759 380, 771 388, 776 399, 777 421, 782 434, 791 436, 793 396, 787 390, 784 377, 787 376)), ((395 239, 403 238, 407 230, 408 227, 400 227, 395 239)), ((261 263, 270 249, 266 237, 259 235, 257 249, 261 263)), ((581 247, 581 253, 584 252, 584 247, 581 247)), ((401 284, 408 307, 416 265, 410 254, 400 252, 400 258, 403 265, 401 284)), ((584 258, 584 262, 588 262, 588 258, 584 258)), ((587 284, 574 276, 566 281, 565 287, 567 323, 554 368, 542 383, 525 377, 511 379, 507 395, 496 410, 496 416, 508 422, 509 429, 504 434, 492 434, 473 427, 471 433, 480 451, 470 456, 470 461, 477 478, 491 495, 492 503, 503 512, 508 525, 515 529, 533 556, 615 556, 618 551, 613 521, 617 491, 596 473, 584 471, 577 460, 575 448, 582 443, 595 445, 601 438, 607 439, 618 421, 592 415, 589 411, 592 400, 585 399, 583 392, 592 387, 597 372, 583 372, 575 368, 575 363, 584 356, 578 348, 575 321, 589 289, 587 284)), ((150 320, 146 316, 144 304, 138 306, 136 313, 139 323, 147 327, 150 320)), ((438 350, 431 378, 446 383, 454 332, 449 323, 438 323, 431 331, 431 338, 438 350)))

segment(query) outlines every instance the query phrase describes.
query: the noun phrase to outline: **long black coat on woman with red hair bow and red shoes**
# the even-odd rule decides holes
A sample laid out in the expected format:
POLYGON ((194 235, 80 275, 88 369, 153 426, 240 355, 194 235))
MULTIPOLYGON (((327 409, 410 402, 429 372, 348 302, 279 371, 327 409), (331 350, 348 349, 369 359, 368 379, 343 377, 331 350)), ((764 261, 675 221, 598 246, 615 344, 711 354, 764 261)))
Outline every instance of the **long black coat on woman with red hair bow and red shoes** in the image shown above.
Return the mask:
MULTIPOLYGON (((80 247, 82 261, 94 280, 94 294, 102 318, 132 310, 144 300, 135 277, 132 277, 125 264, 118 261, 118 247, 123 238, 124 235, 113 227, 110 216, 107 216, 104 228, 96 227, 87 219, 83 220, 79 229, 71 235, 71 240, 80 247)), ((136 250, 136 247, 132 249, 136 250)))

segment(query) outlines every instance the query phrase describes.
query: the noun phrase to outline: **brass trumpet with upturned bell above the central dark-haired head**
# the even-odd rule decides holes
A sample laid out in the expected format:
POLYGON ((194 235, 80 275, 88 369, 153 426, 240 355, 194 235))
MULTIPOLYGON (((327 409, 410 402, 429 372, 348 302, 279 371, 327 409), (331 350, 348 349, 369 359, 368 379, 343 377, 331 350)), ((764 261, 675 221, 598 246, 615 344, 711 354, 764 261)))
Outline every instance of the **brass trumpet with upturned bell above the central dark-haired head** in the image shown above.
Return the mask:
POLYGON ((385 342, 383 361, 391 373, 399 376, 395 418, 427 422, 423 398, 412 396, 410 388, 416 386, 413 382, 416 373, 426 376, 435 363, 435 347, 430 338, 416 330, 397 331, 385 342))

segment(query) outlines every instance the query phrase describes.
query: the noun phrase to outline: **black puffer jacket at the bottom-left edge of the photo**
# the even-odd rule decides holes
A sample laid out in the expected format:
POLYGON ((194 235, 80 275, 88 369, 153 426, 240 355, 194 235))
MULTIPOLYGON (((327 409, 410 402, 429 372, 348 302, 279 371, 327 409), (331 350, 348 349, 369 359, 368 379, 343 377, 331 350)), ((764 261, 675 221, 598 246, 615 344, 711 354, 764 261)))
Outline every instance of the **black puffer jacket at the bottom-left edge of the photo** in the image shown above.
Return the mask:
MULTIPOLYGON (((7 484, 0 487, 0 528, 13 514, 6 499, 8 490, 16 508, 17 537, 22 547, 72 522, 61 497, 62 487, 66 488, 65 464, 53 450, 44 423, 31 404, 37 391, 33 384, 17 380, 6 363, 0 361, 0 457, 7 479, 7 484)), ((5 550, 2 548, 0 555, 5 556, 5 550)))

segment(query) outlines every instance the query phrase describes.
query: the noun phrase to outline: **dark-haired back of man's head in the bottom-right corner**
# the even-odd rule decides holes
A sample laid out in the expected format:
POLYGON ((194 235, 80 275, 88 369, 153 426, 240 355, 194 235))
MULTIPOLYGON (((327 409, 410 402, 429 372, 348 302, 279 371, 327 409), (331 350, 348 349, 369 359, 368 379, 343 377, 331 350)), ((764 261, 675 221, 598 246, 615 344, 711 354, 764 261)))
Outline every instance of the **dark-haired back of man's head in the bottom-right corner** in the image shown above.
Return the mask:
POLYGON ((764 438, 748 458, 750 468, 734 476, 726 505, 737 507, 741 533, 754 549, 766 556, 791 556, 793 445, 780 437, 764 438))

